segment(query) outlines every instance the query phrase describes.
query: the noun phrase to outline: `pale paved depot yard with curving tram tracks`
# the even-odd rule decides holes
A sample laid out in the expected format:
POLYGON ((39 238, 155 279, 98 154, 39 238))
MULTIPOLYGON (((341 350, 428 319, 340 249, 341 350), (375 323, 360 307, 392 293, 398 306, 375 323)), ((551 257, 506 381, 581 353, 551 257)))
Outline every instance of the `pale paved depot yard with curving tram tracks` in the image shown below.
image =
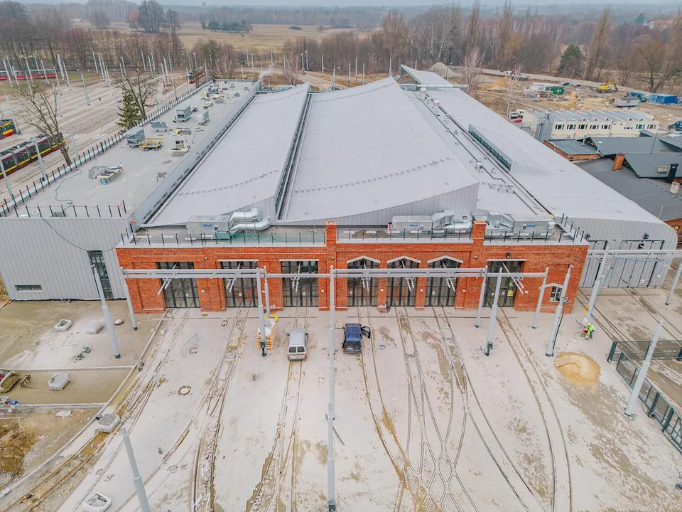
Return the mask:
MULTIPOLYGON (((586 304, 589 290, 581 292, 586 304)), ((664 290, 605 291, 591 341, 579 336, 578 308, 565 315, 556 351, 585 361, 565 373, 545 356, 553 315, 541 315, 532 329, 532 313, 502 309, 486 357, 489 309, 480 329, 471 311, 452 308, 337 311, 338 510, 677 510, 680 454, 643 407, 634 420, 623 415, 629 388, 606 361, 610 336, 617 336, 609 321, 646 338, 660 316, 667 320, 662 337, 680 338, 682 297, 664 301, 664 290), (360 356, 341 351, 338 326, 354 321, 372 329, 360 356)), ((34 375, 68 368, 72 376, 59 392, 70 405, 20 406, 28 416, 15 421, 43 415, 45 425, 66 424, 69 417, 56 413, 81 408, 92 417, 100 408, 94 402, 107 402, 124 383, 106 411, 119 412, 131 432, 151 510, 188 511, 192 503, 195 510, 326 509, 328 312, 281 311, 265 358, 256 343, 257 309, 141 315, 136 332, 127 321, 117 326, 122 358, 114 360, 104 332, 82 331, 98 316, 96 306, 26 302, 0 311, 0 330, 16 340, 3 347, 3 368, 34 375), (55 319, 66 316, 74 319, 70 331, 55 332, 55 319), (286 358, 294 327, 309 333, 305 361, 286 358), (74 361, 83 344, 92 351, 74 361), (139 361, 141 370, 131 368, 139 361), (107 370, 112 365, 124 370, 107 370), (89 374, 107 380, 108 372, 116 378, 104 393, 88 389, 89 374)), ((112 313, 126 318, 124 304, 112 303, 112 313)), ((656 361, 649 377, 679 387, 681 363, 665 363, 656 361)), ((20 403, 31 403, 33 393, 45 400, 44 387, 23 388, 20 403)), ((31 453, 27 470, 49 455, 31 453)), ((0 506, 80 510, 97 491, 112 498, 114 510, 134 511, 130 471, 120 433, 102 437, 90 424, 0 506), (82 447, 89 448, 79 453, 82 447), (69 473, 82 460, 83 469, 69 473)))

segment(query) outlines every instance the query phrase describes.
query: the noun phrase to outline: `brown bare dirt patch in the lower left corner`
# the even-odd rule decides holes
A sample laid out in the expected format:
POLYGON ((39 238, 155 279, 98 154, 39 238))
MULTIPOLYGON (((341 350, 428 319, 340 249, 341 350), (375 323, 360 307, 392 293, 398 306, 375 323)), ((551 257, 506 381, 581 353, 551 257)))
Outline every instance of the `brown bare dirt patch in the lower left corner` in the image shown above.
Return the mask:
POLYGON ((94 415, 94 410, 31 412, 16 420, 0 417, 0 486, 34 469, 73 437, 94 415))

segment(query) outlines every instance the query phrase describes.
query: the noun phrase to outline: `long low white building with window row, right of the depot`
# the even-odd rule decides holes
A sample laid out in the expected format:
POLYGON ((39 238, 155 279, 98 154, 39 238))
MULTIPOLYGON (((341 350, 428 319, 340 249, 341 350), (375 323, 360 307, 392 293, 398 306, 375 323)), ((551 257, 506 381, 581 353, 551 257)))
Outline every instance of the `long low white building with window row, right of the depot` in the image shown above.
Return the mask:
POLYGON ((639 137, 659 128, 653 117, 634 110, 526 110, 523 121, 538 140, 639 137))

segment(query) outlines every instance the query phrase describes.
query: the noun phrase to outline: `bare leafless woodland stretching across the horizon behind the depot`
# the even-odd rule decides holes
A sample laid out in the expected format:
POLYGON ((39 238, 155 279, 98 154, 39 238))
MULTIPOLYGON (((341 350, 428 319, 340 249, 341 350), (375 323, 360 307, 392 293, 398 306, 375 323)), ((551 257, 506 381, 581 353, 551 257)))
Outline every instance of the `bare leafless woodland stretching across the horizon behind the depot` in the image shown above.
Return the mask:
MULTIPOLYGON (((428 68, 435 62, 516 69, 567 78, 613 80, 652 92, 678 92, 682 70, 682 17, 668 6, 585 5, 521 7, 511 1, 489 8, 450 4, 431 8, 248 8, 185 7, 163 9, 156 1, 141 5, 123 0, 87 4, 17 4, 0 2, 0 54, 20 65, 21 56, 37 55, 54 65, 59 54, 69 68, 92 66, 92 51, 105 63, 121 58, 139 65, 141 53, 166 56, 173 65, 191 67, 199 55, 213 71, 231 70, 249 57, 269 62, 270 55, 235 49, 213 36, 217 30, 246 31, 254 24, 315 26, 324 38, 296 37, 292 31, 274 55, 283 52, 293 71, 347 69, 357 58, 368 73, 396 72, 401 63, 428 68), (666 11, 665 9, 668 9, 666 11), (80 20, 90 21, 84 27, 80 20), (183 43, 183 23, 206 27, 192 48, 183 43), (117 29, 112 24, 116 23, 117 29), (122 23, 128 29, 121 30, 122 23), (212 27, 212 29, 208 28, 212 27), (205 37, 203 34, 205 33, 205 37), (254 55, 255 53, 255 55, 254 55), (305 55, 305 63, 301 55, 305 55)), ((262 52, 261 50, 261 53, 262 52)))

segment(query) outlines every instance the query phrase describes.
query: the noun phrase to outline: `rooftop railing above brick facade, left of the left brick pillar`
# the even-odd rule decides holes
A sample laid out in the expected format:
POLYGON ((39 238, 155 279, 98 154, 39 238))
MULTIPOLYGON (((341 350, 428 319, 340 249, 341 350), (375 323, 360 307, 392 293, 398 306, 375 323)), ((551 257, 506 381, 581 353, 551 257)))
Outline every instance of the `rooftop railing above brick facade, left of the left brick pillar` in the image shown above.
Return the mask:
POLYGON ((325 231, 284 233, 216 233, 215 238, 190 237, 186 233, 121 233, 123 245, 325 245, 325 231))

